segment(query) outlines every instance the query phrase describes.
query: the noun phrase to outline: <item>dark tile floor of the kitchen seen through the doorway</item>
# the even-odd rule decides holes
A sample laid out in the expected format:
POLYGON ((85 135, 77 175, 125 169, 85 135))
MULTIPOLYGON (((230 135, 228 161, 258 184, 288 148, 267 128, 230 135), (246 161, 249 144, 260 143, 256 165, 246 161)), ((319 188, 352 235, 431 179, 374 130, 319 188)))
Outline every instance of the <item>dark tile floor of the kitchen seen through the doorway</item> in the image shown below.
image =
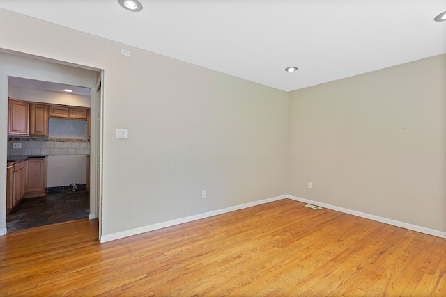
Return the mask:
POLYGON ((6 215, 6 230, 10 233, 31 227, 88 218, 89 212, 90 192, 87 191, 24 198, 6 215))

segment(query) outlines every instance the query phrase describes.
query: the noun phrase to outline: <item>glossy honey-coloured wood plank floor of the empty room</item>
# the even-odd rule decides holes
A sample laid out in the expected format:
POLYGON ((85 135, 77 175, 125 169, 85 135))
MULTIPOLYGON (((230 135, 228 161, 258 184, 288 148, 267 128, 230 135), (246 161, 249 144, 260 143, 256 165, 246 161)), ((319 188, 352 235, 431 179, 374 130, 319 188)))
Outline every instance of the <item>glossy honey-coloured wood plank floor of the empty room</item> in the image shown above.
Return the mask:
POLYGON ((86 219, 0 237, 0 296, 446 296, 446 239, 288 199, 97 237, 86 219))

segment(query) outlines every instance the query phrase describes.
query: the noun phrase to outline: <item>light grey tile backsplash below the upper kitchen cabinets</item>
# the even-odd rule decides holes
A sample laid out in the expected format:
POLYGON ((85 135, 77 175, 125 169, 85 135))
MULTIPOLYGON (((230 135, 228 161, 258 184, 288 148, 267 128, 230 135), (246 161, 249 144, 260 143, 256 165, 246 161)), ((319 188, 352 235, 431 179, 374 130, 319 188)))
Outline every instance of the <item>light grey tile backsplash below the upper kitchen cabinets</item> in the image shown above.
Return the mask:
POLYGON ((8 137, 8 156, 89 155, 89 138, 8 137), (20 143, 21 148, 13 148, 20 143))

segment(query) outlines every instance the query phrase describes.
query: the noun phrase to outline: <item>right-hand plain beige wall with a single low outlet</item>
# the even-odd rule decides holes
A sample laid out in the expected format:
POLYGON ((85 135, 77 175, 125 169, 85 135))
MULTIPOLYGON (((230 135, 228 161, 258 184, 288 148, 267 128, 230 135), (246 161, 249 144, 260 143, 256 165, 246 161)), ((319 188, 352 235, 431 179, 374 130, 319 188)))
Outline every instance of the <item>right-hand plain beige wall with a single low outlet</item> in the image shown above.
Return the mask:
POLYGON ((289 94, 289 195, 445 232, 445 157, 446 55, 289 94))

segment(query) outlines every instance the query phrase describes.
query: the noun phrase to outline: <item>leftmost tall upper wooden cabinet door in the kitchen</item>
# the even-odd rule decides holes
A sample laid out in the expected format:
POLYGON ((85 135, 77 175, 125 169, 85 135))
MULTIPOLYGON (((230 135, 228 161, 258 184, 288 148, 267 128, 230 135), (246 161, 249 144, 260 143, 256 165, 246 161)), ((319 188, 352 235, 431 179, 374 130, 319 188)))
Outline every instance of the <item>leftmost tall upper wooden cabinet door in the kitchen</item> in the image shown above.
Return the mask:
POLYGON ((29 103, 8 100, 8 134, 29 135, 29 103))

